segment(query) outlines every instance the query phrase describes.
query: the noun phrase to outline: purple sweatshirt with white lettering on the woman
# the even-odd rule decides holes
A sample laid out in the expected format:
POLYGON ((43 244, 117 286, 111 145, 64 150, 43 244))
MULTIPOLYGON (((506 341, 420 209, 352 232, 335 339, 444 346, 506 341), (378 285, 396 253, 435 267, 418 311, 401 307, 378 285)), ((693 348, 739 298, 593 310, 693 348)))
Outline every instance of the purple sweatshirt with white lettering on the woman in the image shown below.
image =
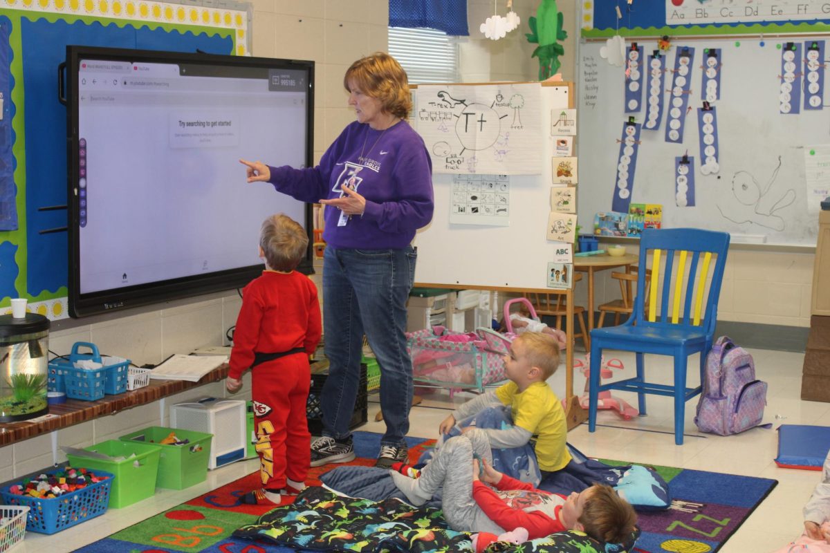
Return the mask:
POLYGON ((355 121, 317 167, 269 168, 276 190, 300 201, 337 198, 343 183, 366 198, 363 216, 351 216, 345 225, 338 225, 339 209, 325 207, 323 239, 335 248, 401 249, 432 221, 432 161, 406 121, 383 131, 355 121))

